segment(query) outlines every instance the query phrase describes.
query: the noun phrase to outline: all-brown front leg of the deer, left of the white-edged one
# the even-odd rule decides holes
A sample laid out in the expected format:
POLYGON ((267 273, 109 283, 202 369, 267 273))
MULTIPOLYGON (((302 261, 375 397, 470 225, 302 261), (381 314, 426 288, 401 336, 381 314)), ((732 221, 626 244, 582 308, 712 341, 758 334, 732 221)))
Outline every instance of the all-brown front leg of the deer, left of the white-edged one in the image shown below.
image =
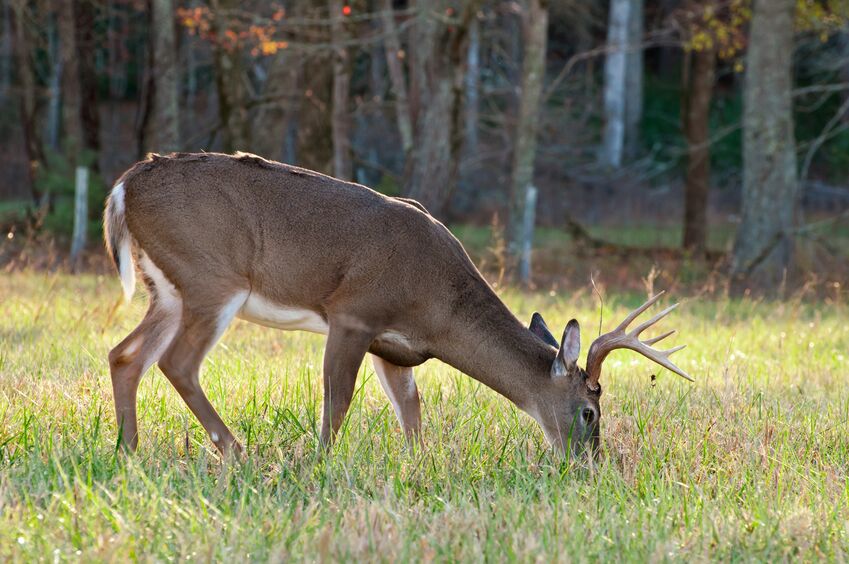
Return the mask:
POLYGON ((351 327, 345 320, 329 320, 324 349, 324 406, 321 419, 321 443, 333 442, 354 397, 357 372, 374 335, 351 327))

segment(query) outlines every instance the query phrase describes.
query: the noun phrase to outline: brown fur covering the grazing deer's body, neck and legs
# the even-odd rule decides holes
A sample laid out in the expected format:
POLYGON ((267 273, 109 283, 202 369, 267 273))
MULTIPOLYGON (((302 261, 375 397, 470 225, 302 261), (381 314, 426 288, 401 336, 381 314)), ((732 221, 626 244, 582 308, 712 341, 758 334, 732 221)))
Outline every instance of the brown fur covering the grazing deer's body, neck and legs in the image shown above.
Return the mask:
MULTIPOLYGON (((459 241, 417 202, 247 154, 151 155, 120 181, 134 247, 183 299, 180 329, 156 360, 222 450, 237 443, 197 374, 214 344, 216 316, 240 290, 328 323, 326 442, 348 409, 367 351, 388 363, 387 374, 410 380, 403 367, 442 359, 532 414, 563 449, 597 432, 570 432, 585 406, 599 413, 582 374, 551 377, 557 349, 508 311, 459 241), (409 346, 378 338, 386 331, 404 335, 409 346)), ((119 388, 116 404, 127 409, 119 388)), ((135 440, 134 389, 132 396, 135 440)), ((415 426, 405 431, 417 432, 418 395, 401 403, 415 426)))

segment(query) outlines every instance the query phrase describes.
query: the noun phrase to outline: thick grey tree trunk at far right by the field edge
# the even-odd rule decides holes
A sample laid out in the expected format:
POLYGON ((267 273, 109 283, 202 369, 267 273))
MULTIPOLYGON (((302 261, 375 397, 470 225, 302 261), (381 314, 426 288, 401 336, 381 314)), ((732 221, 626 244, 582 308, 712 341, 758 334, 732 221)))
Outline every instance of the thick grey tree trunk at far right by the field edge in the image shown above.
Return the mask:
POLYGON ((792 265, 799 196, 793 136, 796 0, 755 0, 743 93, 743 210, 735 289, 777 289, 792 265))

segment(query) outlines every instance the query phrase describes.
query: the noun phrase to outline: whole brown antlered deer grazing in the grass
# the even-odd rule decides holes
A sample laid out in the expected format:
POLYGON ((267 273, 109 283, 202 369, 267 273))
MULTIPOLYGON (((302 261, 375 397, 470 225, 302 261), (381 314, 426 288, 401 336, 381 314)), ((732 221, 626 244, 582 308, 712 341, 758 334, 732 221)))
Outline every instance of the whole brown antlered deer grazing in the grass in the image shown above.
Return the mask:
POLYGON ((129 299, 135 265, 150 293, 139 326, 109 353, 119 441, 138 442, 136 391, 154 363, 224 454, 241 451, 199 382, 201 362, 239 317, 327 335, 321 441, 351 403, 367 352, 409 438, 421 412, 412 367, 438 358, 507 397, 562 451, 598 444, 599 376, 629 348, 689 379, 630 333, 631 313, 577 365, 580 329, 558 343, 539 314, 526 328, 460 242, 421 204, 254 155, 151 155, 115 184, 106 245, 129 299))

